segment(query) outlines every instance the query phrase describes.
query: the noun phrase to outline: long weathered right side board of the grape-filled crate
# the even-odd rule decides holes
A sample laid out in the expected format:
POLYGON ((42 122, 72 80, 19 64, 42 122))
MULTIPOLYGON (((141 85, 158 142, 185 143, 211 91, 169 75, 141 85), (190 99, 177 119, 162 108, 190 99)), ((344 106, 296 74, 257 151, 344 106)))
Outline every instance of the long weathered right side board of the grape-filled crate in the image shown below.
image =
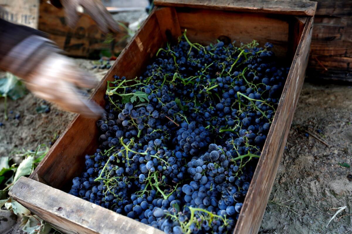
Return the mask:
POLYGON ((235 227, 234 233, 236 234, 255 234, 259 230, 303 85, 312 26, 313 18, 308 18, 268 138, 235 227))

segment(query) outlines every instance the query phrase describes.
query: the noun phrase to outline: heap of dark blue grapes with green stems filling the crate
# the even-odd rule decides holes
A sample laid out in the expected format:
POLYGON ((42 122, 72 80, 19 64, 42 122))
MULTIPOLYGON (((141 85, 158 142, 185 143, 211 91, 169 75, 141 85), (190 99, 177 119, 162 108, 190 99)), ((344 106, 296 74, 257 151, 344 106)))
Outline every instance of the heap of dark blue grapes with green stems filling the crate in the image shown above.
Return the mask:
POLYGON ((185 32, 139 78, 115 75, 70 194, 165 233, 230 233, 288 74, 271 47, 185 32))

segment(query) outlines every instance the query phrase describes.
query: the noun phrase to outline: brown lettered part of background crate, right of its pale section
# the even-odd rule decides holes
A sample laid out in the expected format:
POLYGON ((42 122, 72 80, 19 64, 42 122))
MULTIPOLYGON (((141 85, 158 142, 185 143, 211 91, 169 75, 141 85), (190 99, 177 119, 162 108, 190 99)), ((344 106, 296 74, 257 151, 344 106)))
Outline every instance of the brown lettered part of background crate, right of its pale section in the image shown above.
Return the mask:
POLYGON ((127 44, 127 31, 119 26, 120 33, 111 34, 115 38, 106 43, 106 34, 96 22, 84 13, 77 13, 79 20, 75 28, 70 28, 65 21, 65 12, 46 1, 40 2, 38 29, 49 34, 49 39, 56 42, 59 48, 71 56, 89 57, 97 54, 101 49, 108 49, 115 53, 121 52, 127 44))

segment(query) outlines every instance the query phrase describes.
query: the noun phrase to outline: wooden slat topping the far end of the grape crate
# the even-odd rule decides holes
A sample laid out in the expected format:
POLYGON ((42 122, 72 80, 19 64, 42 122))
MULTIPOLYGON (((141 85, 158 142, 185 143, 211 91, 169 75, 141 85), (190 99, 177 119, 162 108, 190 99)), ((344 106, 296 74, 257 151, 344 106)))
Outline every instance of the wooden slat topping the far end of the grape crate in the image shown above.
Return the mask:
POLYGON ((316 2, 306 0, 154 0, 156 6, 314 16, 316 2))

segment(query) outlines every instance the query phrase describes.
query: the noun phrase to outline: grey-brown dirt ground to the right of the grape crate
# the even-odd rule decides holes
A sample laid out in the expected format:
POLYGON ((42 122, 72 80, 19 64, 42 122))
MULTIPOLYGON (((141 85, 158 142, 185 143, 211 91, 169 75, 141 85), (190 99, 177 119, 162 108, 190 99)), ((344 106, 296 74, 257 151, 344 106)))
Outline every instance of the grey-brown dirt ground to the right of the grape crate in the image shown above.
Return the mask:
POLYGON ((352 233, 352 169, 339 165, 352 163, 351 96, 351 86, 304 83, 260 234, 352 233), (326 228, 329 209, 344 206, 326 228))

